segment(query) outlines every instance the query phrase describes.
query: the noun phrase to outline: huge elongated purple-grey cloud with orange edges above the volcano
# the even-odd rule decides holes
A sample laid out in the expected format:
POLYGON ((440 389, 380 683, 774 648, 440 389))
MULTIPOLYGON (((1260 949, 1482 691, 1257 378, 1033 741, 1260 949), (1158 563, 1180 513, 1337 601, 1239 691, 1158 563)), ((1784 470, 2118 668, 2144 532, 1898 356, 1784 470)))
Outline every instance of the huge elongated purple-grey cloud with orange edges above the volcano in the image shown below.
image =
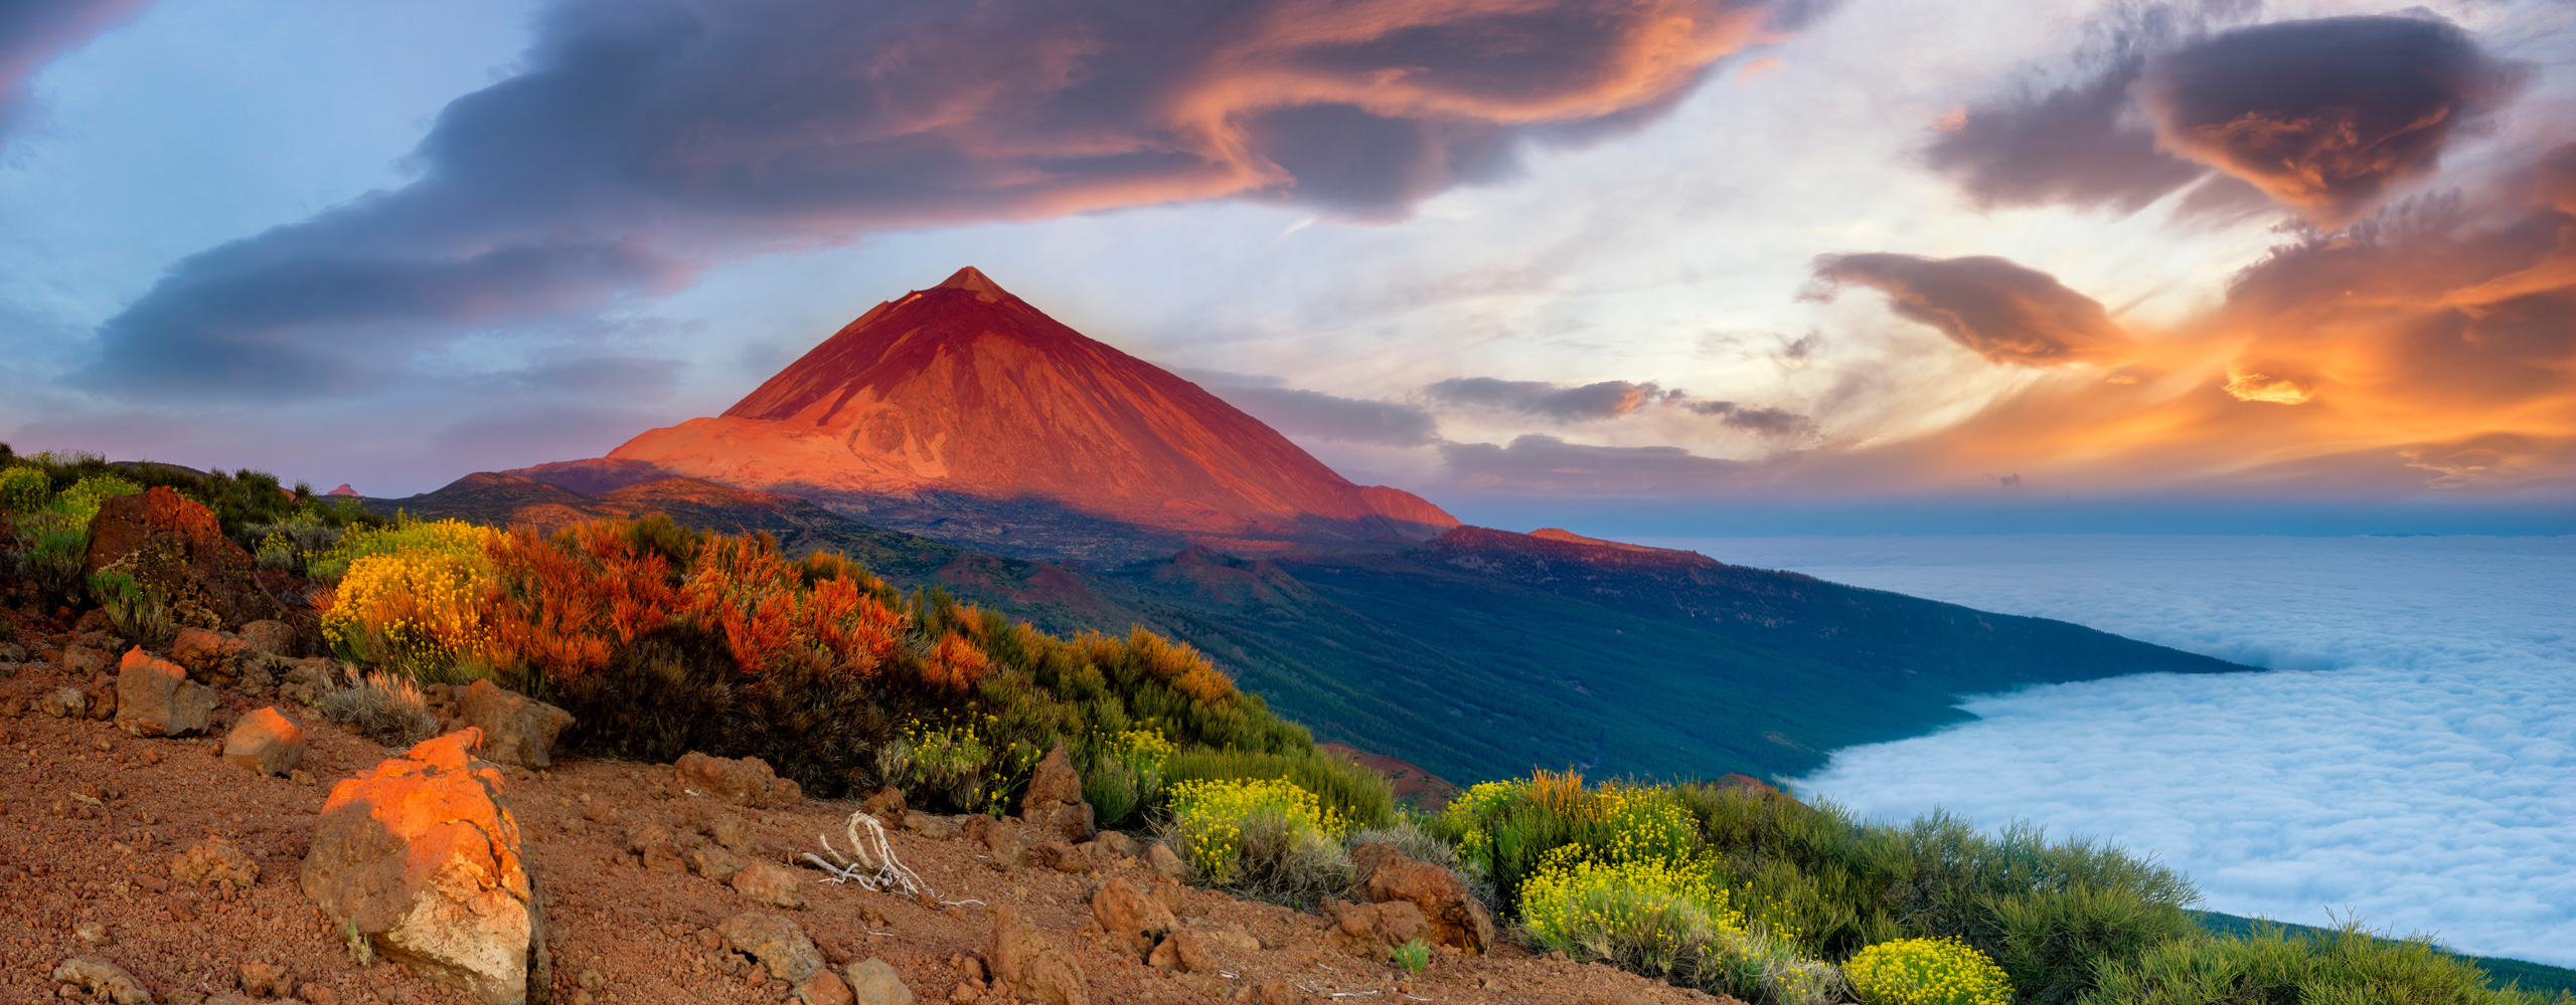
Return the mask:
POLYGON ((381 383, 461 326, 853 234, 1211 198, 1394 218, 1685 95, 1754 0, 556 0, 420 177, 188 257, 93 386, 381 383))

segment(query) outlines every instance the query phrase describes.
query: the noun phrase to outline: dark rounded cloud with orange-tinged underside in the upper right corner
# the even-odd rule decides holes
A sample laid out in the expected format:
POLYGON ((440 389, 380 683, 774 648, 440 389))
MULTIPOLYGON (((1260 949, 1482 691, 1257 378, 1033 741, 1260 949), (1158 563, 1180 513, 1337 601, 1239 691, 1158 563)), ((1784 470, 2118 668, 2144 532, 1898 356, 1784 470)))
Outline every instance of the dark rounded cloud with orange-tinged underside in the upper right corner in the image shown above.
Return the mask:
POLYGON ((2519 90, 2447 21, 2318 18, 2236 28, 2148 62, 2156 144, 2342 226, 2432 172, 2519 90))

